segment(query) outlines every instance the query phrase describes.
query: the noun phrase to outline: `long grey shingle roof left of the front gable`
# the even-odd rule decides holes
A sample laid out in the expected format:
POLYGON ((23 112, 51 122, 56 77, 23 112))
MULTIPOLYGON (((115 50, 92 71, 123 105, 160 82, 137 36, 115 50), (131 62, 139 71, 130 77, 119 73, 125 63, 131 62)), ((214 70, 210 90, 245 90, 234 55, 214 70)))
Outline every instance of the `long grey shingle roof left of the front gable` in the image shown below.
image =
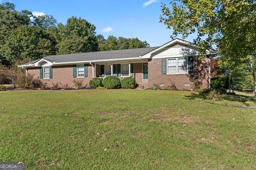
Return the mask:
MULTIPOLYGON (((76 53, 76 54, 65 54, 65 55, 49 55, 44 57, 47 61, 55 63, 63 62, 76 62, 76 61, 93 61, 93 60, 108 60, 108 59, 124 59, 140 57, 158 47, 148 47, 139 49, 123 49, 123 50, 112 50, 112 51, 96 51, 88 53, 76 53)), ((38 59, 39 60, 39 59, 38 59)), ((36 63, 38 60, 32 61, 31 64, 36 63)), ((29 63, 26 63, 29 64, 29 63)), ((25 64, 24 64, 25 65, 25 64)))

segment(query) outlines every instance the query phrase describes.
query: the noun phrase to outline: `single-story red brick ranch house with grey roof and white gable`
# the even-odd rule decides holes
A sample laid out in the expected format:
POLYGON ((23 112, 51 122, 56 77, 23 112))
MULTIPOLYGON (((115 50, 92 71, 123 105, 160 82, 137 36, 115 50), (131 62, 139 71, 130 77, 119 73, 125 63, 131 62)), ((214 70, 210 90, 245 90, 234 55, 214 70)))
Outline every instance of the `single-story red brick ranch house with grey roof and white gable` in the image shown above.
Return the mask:
POLYGON ((86 85, 94 77, 112 75, 120 79, 132 76, 144 88, 158 84, 183 90, 191 89, 195 80, 200 88, 210 87, 210 57, 216 53, 209 47, 204 59, 198 61, 196 45, 174 39, 160 47, 51 55, 19 67, 49 87, 58 82, 74 88, 73 80, 83 80, 86 85))

